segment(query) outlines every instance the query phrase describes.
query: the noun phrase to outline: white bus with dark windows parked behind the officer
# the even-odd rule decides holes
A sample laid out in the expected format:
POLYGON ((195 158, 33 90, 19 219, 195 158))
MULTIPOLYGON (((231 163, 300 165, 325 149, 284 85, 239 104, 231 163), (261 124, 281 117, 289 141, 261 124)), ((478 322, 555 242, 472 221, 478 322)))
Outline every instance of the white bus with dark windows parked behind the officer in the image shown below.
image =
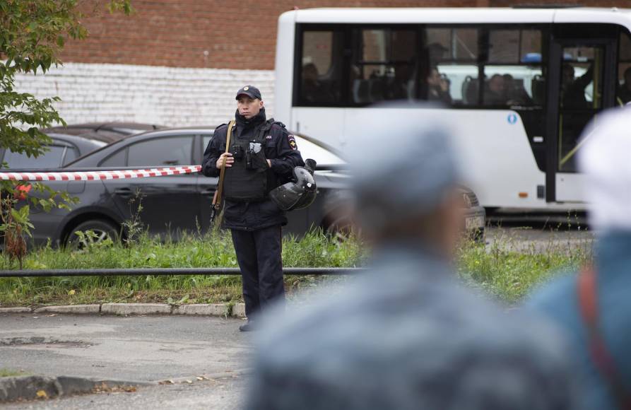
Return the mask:
POLYGON ((372 103, 439 100, 415 115, 454 124, 480 204, 582 209, 577 140, 598 112, 631 99, 630 28, 630 11, 616 8, 289 11, 278 21, 275 116, 343 149, 358 113, 387 121, 399 110, 372 103))

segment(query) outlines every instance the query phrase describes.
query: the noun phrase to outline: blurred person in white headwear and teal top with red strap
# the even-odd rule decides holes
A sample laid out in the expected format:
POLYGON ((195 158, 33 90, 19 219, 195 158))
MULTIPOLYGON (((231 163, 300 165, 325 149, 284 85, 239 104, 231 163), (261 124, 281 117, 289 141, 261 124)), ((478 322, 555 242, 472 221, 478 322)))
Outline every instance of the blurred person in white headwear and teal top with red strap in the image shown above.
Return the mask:
POLYGON ((579 151, 593 266, 541 289, 530 307, 543 312, 572 342, 586 409, 631 409, 631 110, 599 115, 579 151))

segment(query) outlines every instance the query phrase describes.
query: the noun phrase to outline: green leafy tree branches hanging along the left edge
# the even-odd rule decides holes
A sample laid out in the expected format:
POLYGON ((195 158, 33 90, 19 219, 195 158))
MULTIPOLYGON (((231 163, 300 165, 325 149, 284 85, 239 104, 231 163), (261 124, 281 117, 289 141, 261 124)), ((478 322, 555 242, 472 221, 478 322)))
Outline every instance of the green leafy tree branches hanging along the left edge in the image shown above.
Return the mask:
MULTIPOLYGON (((0 150, 9 149, 30 158, 40 156, 52 140, 38 130, 55 123, 66 125, 54 107, 59 98, 35 98, 30 93, 17 92, 14 84, 20 72, 40 75, 52 64, 61 64, 59 52, 64 48, 66 37, 81 39, 88 35, 81 24, 84 17, 78 10, 81 3, 77 0, 0 0, 0 150)), ((109 3, 112 11, 125 14, 133 11, 130 0, 109 0, 109 3)), ((7 168, 6 162, 2 162, 2 167, 7 168)), ((40 199, 27 197, 28 203, 37 209, 69 209, 78 202, 67 193, 58 193, 43 185, 33 185, 33 189, 45 194, 40 199)), ((8 199, 1 200, 4 212, 0 210, 3 222, 0 230, 20 226, 25 235, 30 235, 33 224, 29 222, 29 206, 19 210, 12 208, 17 202, 11 199, 16 192, 14 183, 0 182, 0 191, 9 195, 8 199)))

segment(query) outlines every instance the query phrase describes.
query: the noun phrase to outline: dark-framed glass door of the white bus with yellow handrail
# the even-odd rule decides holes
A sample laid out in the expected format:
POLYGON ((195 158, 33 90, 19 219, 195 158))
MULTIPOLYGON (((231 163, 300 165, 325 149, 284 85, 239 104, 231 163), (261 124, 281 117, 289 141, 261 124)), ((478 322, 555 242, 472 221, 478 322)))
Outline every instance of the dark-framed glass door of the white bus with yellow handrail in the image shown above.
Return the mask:
MULTIPOLYGON (((573 33, 576 26, 572 27, 573 33)), ((585 141, 580 137, 598 112, 614 105, 615 32, 603 30, 598 36, 570 37, 560 28, 550 41, 546 121, 548 202, 584 201, 582 176, 577 173, 577 153, 585 141), (612 32, 611 37, 608 31, 612 32)))

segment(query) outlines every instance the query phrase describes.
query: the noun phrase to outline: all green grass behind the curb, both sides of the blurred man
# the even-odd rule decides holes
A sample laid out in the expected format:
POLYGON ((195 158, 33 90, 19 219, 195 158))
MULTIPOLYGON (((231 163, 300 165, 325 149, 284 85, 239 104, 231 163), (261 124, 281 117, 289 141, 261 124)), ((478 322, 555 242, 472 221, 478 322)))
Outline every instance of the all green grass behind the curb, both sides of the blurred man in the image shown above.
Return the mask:
MULTIPOLYGON (((464 242, 456 266, 469 286, 515 303, 555 272, 574 269, 591 259, 591 243, 525 247, 507 235, 491 246, 464 242)), ((338 244, 322 233, 283 241, 283 265, 362 266, 367 252, 350 239, 338 244)), ((160 242, 141 235, 132 245, 106 243, 84 251, 44 247, 30 252, 25 269, 237 267, 230 235, 186 235, 160 242)), ((0 257, 0 269, 17 269, 0 257)), ((317 286, 331 276, 285 276, 295 291, 317 286)), ((0 279, 0 305, 59 305, 108 302, 235 303, 242 300, 240 276, 83 276, 0 279)))

